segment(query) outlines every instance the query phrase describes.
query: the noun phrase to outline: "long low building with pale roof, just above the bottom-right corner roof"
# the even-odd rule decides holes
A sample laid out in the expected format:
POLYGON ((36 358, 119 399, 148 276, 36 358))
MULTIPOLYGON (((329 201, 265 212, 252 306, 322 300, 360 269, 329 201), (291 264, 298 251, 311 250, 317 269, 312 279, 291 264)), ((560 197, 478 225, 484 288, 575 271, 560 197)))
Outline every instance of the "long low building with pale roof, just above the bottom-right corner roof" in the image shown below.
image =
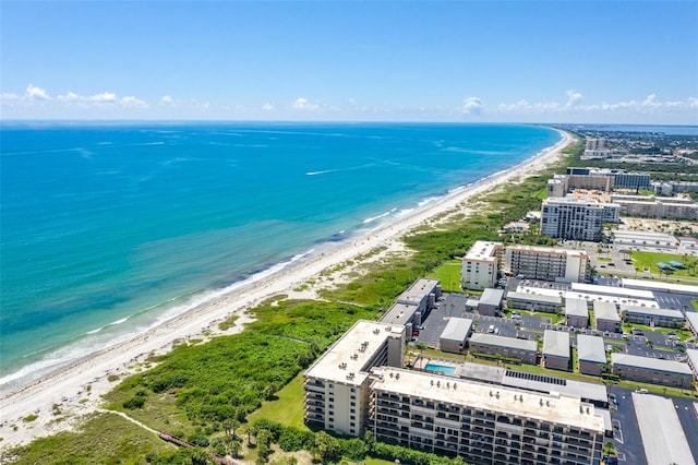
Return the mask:
POLYGON ((694 375, 688 363, 652 357, 612 353, 611 363, 613 372, 624 380, 665 386, 690 388, 694 375))

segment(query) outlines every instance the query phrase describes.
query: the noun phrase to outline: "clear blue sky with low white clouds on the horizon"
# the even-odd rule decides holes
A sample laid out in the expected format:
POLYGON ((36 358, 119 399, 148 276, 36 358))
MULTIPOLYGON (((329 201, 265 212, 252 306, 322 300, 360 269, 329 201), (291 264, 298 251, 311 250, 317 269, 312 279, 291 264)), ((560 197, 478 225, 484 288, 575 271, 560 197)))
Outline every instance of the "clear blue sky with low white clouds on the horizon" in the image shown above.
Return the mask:
POLYGON ((698 124, 696 1, 8 1, 2 119, 698 124))

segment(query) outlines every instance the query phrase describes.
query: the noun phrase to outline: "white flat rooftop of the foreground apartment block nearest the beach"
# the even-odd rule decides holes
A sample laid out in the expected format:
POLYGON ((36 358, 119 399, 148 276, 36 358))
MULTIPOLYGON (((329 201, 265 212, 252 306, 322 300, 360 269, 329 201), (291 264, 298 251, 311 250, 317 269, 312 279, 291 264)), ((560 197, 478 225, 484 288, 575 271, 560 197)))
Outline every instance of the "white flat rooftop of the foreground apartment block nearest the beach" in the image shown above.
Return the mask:
POLYGON ((390 336, 400 337, 404 331, 402 325, 360 320, 308 369, 305 375, 360 385, 369 375, 376 348, 390 336))

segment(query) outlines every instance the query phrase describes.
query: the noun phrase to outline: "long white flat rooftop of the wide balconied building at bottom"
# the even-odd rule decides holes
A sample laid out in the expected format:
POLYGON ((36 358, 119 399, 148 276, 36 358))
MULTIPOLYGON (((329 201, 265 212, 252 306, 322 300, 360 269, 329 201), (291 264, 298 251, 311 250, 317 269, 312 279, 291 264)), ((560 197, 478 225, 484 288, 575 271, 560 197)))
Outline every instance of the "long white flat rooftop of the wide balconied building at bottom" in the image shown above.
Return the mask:
POLYGON ((604 432, 602 415, 578 396, 532 393, 389 367, 375 368, 373 372, 374 390, 604 432))

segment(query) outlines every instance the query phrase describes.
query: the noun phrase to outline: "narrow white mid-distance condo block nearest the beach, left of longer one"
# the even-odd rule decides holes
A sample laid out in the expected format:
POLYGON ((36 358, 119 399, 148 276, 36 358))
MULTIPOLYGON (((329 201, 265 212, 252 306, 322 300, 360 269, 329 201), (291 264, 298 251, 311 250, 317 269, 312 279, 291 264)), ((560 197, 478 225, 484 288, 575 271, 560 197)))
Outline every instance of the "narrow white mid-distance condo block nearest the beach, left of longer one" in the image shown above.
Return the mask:
POLYGON ((501 242, 479 240, 472 245, 460 265, 461 287, 464 289, 494 287, 503 252, 504 245, 501 242))

